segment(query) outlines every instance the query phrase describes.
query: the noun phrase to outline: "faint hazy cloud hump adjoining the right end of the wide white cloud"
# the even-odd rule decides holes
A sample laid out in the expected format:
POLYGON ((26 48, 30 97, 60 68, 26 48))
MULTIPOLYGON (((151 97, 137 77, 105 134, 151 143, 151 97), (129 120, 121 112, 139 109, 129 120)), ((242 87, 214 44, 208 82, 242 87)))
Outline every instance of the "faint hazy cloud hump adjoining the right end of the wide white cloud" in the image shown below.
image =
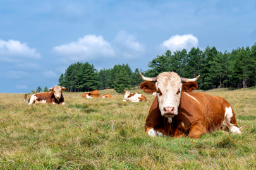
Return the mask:
POLYGON ((114 49, 116 53, 125 57, 126 59, 133 59, 140 57, 145 51, 143 43, 135 42, 136 37, 128 34, 126 31, 119 31, 114 38, 114 49))

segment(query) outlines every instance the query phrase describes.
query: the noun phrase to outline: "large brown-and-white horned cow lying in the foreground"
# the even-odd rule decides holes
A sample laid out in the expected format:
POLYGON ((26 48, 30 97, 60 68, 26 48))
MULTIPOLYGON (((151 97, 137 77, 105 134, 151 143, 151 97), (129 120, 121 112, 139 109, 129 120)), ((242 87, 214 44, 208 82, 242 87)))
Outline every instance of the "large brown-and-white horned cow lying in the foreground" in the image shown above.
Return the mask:
POLYGON ((140 89, 157 93, 145 123, 147 135, 198 139, 225 127, 231 133, 241 133, 233 108, 226 99, 192 92, 197 89, 195 81, 200 75, 194 79, 180 77, 175 72, 162 72, 152 78, 140 76, 145 81, 140 89))

